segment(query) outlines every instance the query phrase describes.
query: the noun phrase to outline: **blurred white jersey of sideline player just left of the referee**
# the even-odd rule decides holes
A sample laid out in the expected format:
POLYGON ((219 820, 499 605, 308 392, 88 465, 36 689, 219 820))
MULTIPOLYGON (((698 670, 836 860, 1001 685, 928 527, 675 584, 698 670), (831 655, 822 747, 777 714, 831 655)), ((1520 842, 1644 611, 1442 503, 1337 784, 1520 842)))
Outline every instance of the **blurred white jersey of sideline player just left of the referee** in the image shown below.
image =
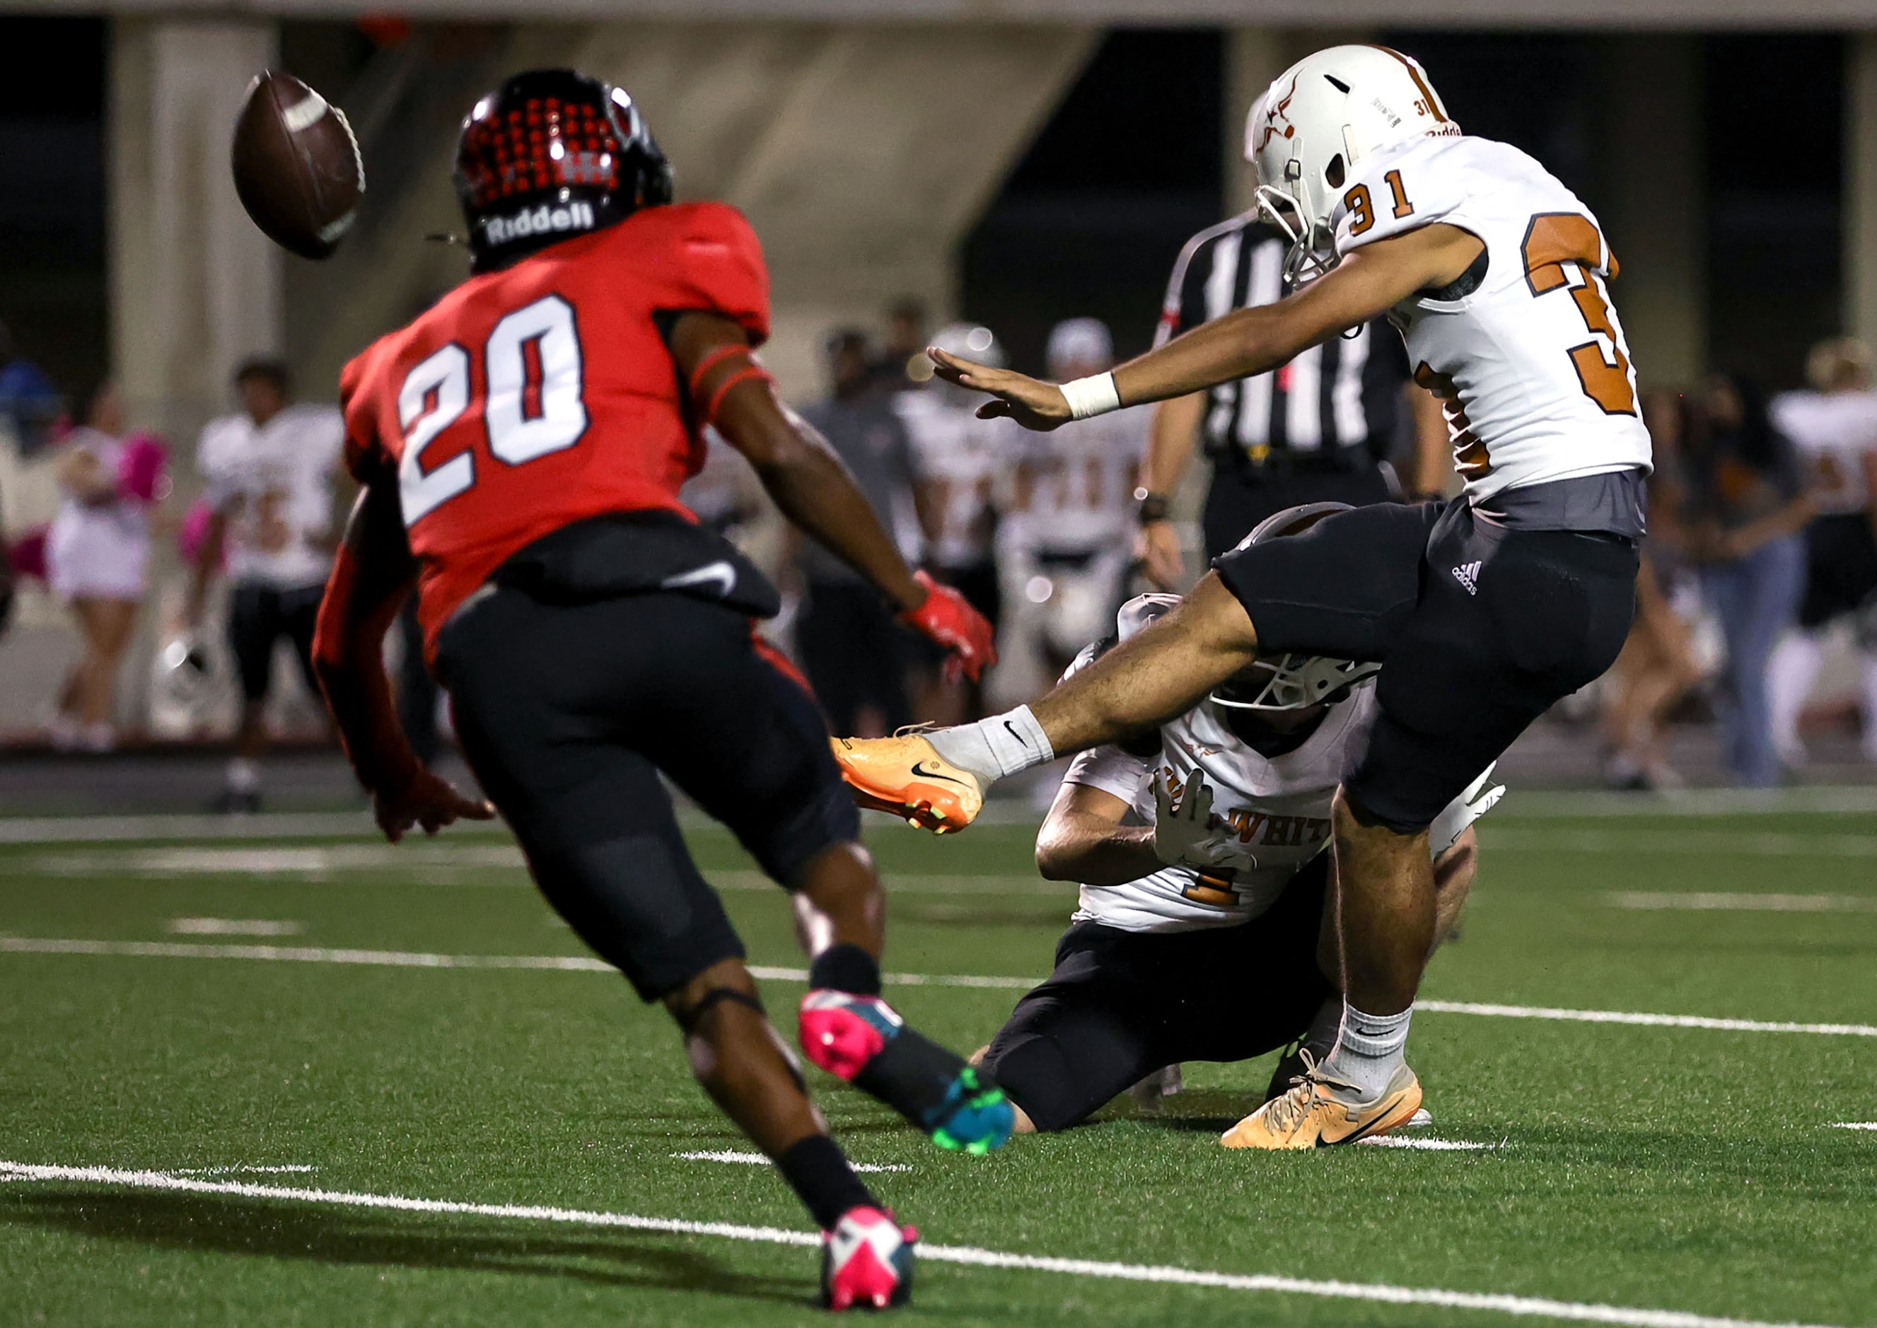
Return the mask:
POLYGON ((1015 542, 1044 553, 1100 553, 1130 542, 1149 418, 1136 407, 1025 435, 1015 542))

